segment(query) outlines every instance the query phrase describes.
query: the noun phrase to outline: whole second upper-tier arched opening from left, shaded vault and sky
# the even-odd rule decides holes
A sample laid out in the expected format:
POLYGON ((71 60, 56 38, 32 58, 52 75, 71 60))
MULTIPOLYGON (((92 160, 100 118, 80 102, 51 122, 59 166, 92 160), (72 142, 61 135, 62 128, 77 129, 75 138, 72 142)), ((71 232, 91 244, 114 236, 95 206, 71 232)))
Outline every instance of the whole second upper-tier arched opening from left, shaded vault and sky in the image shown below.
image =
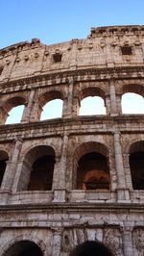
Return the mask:
POLYGON ((40 120, 62 116, 63 95, 60 91, 49 91, 39 97, 40 120))

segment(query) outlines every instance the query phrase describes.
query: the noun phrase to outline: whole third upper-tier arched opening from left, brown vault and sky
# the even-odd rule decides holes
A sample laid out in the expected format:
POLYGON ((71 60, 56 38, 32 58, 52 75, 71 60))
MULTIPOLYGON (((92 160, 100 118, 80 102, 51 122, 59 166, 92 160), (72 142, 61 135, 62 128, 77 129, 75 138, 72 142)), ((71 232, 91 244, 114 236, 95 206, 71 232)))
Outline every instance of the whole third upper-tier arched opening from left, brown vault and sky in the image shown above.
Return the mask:
POLYGON ((106 115, 106 113, 103 90, 87 88, 81 92, 79 115, 106 115))

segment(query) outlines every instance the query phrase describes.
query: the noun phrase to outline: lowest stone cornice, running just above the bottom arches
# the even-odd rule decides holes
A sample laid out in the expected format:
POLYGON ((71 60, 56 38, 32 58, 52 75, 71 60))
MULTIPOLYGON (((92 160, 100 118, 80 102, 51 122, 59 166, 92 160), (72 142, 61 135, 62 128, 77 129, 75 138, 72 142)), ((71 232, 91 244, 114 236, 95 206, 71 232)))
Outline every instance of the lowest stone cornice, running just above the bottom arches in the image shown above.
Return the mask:
POLYGON ((23 212, 23 210, 26 211, 47 211, 47 212, 52 212, 52 210, 56 210, 57 212, 64 211, 64 212, 76 212, 78 213, 83 211, 83 212, 99 212, 101 208, 101 211, 110 211, 110 212, 117 212, 117 210, 122 211, 122 213, 132 213, 135 211, 138 211, 138 213, 143 213, 144 211, 144 204, 139 204, 139 203, 131 203, 131 202, 124 202, 124 203, 103 203, 103 202, 97 202, 97 203, 49 203, 49 204, 17 204, 17 205, 1 205, 0 208, 0 213, 4 213, 5 211, 16 211, 16 212, 23 212))

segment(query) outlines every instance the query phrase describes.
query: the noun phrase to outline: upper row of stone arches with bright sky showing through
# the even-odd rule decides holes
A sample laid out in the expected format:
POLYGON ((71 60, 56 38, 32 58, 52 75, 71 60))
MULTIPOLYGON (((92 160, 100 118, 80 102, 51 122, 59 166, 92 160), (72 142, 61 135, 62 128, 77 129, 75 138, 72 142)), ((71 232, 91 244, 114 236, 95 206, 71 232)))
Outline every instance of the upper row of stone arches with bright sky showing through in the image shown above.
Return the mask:
POLYGON ((144 114, 143 97, 142 82, 140 84, 114 82, 114 85, 85 82, 76 83, 70 88, 68 85, 60 85, 60 87, 54 86, 53 89, 48 87, 1 94, 1 124, 77 115, 144 114), (18 112, 19 106, 21 112, 18 112))

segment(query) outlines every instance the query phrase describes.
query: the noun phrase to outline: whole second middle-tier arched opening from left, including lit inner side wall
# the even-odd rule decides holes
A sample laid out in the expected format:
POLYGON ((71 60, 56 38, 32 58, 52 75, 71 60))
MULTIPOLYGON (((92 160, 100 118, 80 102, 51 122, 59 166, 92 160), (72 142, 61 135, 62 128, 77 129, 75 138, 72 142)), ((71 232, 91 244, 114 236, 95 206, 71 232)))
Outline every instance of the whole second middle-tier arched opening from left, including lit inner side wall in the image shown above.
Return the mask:
POLYGON ((23 161, 18 190, 51 191, 55 163, 55 151, 51 146, 32 148, 23 161))

